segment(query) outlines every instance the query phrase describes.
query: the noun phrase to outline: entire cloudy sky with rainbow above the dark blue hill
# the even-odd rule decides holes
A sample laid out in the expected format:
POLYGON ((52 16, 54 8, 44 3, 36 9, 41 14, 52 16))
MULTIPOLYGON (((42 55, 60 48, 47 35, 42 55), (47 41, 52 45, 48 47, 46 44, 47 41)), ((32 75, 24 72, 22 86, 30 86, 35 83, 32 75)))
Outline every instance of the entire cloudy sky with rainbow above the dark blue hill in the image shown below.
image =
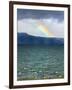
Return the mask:
POLYGON ((64 38, 64 12, 17 9, 17 28, 33 36, 64 38))

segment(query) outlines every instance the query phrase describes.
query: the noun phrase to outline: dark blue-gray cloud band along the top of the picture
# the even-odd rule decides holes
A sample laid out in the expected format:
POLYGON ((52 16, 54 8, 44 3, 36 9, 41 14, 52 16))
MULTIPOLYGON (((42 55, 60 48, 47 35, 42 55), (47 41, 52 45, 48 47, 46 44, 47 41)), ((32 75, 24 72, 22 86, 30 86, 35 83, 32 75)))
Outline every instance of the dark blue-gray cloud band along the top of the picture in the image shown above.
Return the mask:
POLYGON ((18 20, 24 18, 32 18, 32 19, 55 18, 58 19, 59 21, 63 21, 64 11, 17 9, 17 18, 18 20))

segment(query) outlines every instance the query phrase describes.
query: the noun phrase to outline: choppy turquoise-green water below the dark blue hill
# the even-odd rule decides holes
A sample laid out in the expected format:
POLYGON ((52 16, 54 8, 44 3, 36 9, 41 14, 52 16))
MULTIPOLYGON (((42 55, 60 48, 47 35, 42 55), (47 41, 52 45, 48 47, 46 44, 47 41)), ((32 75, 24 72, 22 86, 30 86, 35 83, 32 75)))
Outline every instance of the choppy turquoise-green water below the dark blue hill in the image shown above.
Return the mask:
POLYGON ((64 78, 63 46, 18 46, 17 80, 64 78))

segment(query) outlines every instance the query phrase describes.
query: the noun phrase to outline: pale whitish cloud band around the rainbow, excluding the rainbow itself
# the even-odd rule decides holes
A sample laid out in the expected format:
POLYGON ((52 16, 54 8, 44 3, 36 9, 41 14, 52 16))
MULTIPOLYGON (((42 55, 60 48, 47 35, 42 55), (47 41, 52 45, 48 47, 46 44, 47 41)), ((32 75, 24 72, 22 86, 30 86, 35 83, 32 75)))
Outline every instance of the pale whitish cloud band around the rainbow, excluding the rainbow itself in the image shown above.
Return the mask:
POLYGON ((57 19, 21 19, 18 20, 18 32, 28 33, 34 36, 41 37, 64 37, 64 22, 59 22, 57 19), (52 33, 52 36, 48 36, 43 33, 37 26, 37 22, 42 22, 44 26, 48 28, 48 31, 52 33))

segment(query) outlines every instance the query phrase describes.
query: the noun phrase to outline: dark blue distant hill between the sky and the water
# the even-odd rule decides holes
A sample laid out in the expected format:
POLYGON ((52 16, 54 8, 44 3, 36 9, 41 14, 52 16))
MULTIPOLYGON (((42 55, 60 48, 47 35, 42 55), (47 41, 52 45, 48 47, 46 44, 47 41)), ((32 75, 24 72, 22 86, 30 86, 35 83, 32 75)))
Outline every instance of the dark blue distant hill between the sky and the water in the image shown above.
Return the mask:
POLYGON ((31 36, 26 33, 17 33, 18 45, 63 45, 64 38, 45 38, 31 36))

